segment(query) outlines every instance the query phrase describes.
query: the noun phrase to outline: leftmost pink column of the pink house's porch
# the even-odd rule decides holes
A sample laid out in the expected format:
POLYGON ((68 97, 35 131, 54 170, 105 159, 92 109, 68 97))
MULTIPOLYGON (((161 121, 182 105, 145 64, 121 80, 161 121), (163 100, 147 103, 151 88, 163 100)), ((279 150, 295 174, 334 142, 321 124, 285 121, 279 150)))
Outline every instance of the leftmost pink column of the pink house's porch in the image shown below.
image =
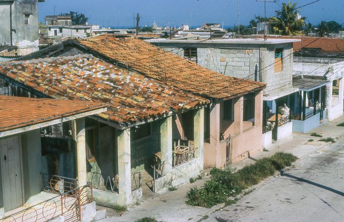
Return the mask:
POLYGON ((215 167, 223 167, 220 150, 220 104, 213 102, 210 105, 210 145, 215 149, 215 167))

